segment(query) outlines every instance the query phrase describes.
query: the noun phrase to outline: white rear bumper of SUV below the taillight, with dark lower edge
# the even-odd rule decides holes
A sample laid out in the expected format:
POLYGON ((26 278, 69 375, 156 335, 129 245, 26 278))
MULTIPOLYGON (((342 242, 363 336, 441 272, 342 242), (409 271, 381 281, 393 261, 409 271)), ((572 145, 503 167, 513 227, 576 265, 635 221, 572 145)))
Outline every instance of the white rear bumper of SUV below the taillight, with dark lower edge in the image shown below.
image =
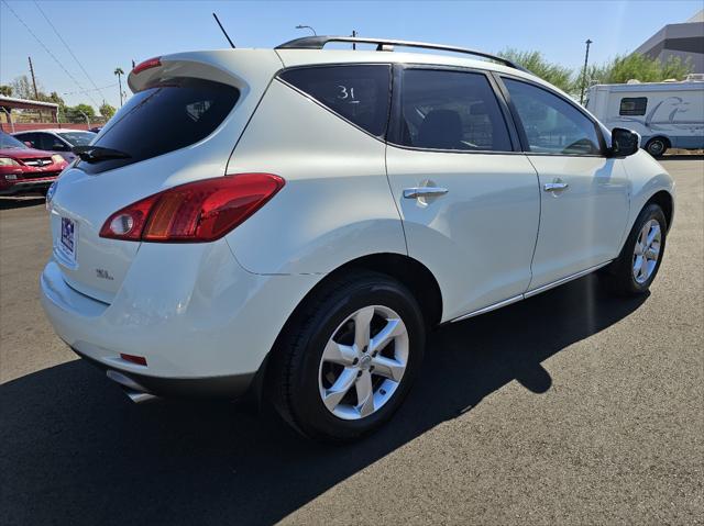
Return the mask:
POLYGON ((110 304, 68 286, 55 260, 42 273, 41 300, 79 356, 145 392, 237 396, 318 279, 248 272, 223 239, 143 244, 110 304), (147 366, 120 354, 144 357, 147 366))

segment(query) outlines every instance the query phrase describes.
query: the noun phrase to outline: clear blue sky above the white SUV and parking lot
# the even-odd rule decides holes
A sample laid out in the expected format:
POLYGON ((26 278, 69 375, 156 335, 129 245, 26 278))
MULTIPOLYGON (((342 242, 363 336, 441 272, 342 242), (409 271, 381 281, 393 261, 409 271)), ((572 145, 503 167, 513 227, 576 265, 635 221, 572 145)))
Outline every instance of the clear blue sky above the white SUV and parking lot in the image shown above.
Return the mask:
POLYGON ((684 22, 702 9, 691 1, 451 1, 451 2, 248 2, 248 1, 40 1, 62 38, 101 91, 94 89, 35 2, 7 0, 64 68, 0 0, 0 82, 29 74, 32 57, 40 83, 67 103, 119 105, 112 71, 129 71, 132 59, 227 47, 212 20, 216 11, 241 47, 272 47, 309 34, 350 34, 439 42, 498 52, 537 49, 553 61, 576 67, 584 41, 594 41, 590 61, 634 51, 668 23, 684 22), (78 85, 72 80, 75 78, 78 85), (91 100, 92 98, 92 100, 91 100))

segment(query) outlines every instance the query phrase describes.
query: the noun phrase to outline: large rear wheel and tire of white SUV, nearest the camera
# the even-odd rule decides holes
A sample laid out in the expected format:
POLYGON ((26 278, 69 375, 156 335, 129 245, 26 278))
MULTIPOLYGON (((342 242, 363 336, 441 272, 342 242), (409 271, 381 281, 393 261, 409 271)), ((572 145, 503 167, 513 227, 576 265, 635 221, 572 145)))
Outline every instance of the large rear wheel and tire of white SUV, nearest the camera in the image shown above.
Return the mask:
POLYGON ((346 441, 387 422, 422 361, 422 314, 388 276, 334 279, 301 305, 277 343, 274 406, 301 434, 346 441))

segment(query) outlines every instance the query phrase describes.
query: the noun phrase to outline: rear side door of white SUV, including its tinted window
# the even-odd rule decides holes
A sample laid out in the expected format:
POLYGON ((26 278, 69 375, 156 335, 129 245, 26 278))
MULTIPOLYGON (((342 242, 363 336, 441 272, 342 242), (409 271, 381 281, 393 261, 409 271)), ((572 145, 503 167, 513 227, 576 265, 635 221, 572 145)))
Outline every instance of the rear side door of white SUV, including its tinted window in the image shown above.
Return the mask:
POLYGON ((520 298, 540 197, 508 109, 479 70, 397 66, 386 166, 408 254, 438 279, 443 321, 520 298))

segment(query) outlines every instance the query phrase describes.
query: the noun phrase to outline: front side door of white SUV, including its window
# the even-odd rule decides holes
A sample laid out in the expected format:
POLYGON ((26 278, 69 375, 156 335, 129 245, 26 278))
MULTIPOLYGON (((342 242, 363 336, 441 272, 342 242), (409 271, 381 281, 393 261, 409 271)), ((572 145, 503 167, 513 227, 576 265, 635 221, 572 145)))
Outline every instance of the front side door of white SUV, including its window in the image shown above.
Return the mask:
POLYGON ((540 179, 535 291, 617 257, 629 186, 623 163, 605 155, 598 125, 575 103, 529 81, 503 82, 540 179))

